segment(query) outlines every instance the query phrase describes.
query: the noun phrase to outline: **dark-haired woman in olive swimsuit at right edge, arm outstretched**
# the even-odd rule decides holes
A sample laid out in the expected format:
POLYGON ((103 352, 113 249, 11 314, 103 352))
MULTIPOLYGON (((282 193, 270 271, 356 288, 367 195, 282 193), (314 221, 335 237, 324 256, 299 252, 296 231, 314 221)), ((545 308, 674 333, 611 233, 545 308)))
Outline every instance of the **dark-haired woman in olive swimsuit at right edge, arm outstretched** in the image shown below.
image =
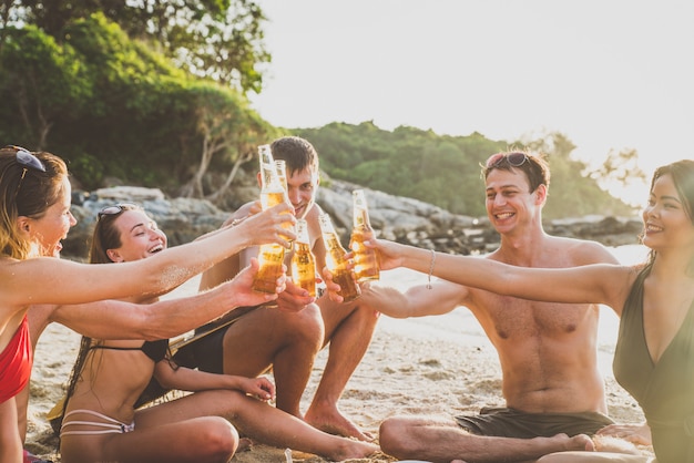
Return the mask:
MULTIPOLYGON (((659 463, 694 462, 694 161, 655 171, 643 210, 644 265, 568 269, 512 267, 374 240, 384 268, 409 267, 500 295, 594 302, 621 318, 614 377, 637 401, 659 463)), ((382 443, 382 439, 381 439, 382 443)), ((633 455, 564 452, 543 463, 640 462, 633 455)))

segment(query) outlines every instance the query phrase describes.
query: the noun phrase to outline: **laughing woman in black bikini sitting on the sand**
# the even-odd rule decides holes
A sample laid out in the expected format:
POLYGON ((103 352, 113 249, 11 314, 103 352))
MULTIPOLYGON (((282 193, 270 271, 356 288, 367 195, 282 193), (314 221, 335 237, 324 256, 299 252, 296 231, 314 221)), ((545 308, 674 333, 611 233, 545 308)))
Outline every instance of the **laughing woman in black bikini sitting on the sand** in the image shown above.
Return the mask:
MULTIPOLYGON (((165 235, 144 210, 112 206, 100 214, 91 261, 133 261, 165 248, 165 235)), ((274 397, 274 385, 266 378, 178 368, 170 360, 167 347, 167 341, 83 338, 61 428, 63 463, 227 462, 238 445, 235 426, 264 443, 336 461, 377 450, 323 433, 269 405, 266 401, 274 397), (194 393, 135 410, 153 375, 166 389, 194 393)))

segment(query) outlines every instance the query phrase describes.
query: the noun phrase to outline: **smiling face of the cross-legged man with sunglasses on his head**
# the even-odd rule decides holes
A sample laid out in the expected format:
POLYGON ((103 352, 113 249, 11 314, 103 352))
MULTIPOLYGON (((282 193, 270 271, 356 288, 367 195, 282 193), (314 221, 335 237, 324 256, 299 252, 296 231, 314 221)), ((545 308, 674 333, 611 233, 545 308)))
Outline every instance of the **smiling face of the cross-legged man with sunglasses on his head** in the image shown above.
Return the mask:
POLYGON ((544 203, 544 185, 530 193, 528 177, 518 169, 493 169, 486 179, 487 215, 500 234, 532 223, 544 203))

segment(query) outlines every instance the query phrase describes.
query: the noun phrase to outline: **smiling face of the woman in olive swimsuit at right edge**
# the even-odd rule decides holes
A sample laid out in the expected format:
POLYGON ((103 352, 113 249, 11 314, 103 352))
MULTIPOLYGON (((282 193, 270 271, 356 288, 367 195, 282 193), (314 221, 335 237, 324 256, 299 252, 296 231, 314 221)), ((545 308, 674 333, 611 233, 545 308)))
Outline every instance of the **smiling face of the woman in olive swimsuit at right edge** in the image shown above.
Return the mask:
POLYGON ((694 253, 694 224, 672 175, 662 175, 653 182, 643 223, 643 244, 651 249, 694 253))

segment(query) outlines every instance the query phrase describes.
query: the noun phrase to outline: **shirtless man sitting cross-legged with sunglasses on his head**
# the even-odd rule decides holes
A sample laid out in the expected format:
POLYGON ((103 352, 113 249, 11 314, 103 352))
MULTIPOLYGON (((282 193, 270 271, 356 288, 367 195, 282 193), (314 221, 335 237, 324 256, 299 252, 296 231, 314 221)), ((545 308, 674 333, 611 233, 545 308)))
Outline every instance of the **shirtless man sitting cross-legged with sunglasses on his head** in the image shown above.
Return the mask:
MULTIPOLYGON (((486 256, 524 267, 616 264, 602 245, 549 236, 542 207, 550 173, 545 162, 524 152, 498 153, 482 171, 487 214, 501 235, 486 256)), ((538 282, 541 284, 540 281, 538 282)), ((392 416, 380 426, 382 450, 399 459, 433 462, 528 461, 563 450, 593 450, 585 434, 612 421, 596 367, 599 307, 555 310, 534 302, 437 281, 405 294, 367 291, 390 317, 441 315, 468 307, 496 347, 501 362, 504 409, 439 419, 392 416), (513 306, 513 310, 509 307, 513 306)))

